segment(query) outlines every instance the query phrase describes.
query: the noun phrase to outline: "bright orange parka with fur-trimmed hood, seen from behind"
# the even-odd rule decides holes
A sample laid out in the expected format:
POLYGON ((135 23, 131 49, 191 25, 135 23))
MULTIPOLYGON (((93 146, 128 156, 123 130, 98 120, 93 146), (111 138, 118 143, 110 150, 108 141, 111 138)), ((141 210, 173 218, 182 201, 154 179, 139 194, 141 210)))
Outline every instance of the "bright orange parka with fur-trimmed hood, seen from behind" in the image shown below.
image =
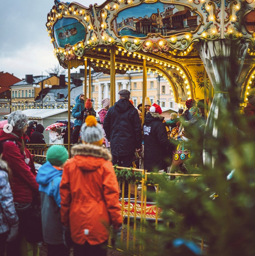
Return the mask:
POLYGON ((111 156, 104 147, 79 144, 64 167, 60 183, 61 222, 70 226, 77 244, 101 244, 109 226, 122 225, 118 181, 111 156))

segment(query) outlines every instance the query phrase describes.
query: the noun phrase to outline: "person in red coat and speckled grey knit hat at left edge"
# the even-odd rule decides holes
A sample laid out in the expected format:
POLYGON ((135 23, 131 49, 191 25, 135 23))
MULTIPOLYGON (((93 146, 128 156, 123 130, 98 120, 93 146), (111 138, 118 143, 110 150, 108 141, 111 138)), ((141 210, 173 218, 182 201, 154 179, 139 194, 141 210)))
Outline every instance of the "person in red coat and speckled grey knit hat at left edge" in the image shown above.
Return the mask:
POLYGON ((2 159, 12 171, 10 181, 14 206, 19 218, 18 237, 7 245, 7 256, 20 256, 20 244, 26 234, 26 223, 33 196, 39 197, 39 185, 35 180, 35 167, 31 154, 25 146, 27 140, 27 116, 22 111, 14 111, 8 116, 12 125, 11 133, 0 131, 0 143, 3 145, 2 159))

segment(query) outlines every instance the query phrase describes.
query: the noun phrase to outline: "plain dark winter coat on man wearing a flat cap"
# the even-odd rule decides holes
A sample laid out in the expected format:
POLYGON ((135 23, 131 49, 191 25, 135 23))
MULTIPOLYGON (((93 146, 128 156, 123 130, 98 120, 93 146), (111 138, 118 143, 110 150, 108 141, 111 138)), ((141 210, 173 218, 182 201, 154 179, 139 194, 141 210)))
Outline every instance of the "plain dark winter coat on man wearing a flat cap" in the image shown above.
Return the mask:
POLYGON ((104 131, 113 155, 131 155, 141 148, 141 121, 137 109, 128 99, 119 99, 109 108, 104 131))

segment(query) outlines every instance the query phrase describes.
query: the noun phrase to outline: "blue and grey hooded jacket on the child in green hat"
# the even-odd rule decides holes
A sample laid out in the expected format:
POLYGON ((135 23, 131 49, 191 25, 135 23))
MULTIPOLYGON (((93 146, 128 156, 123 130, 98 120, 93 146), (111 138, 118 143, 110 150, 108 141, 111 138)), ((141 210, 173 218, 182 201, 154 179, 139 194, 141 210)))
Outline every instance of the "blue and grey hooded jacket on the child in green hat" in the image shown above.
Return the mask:
POLYGON ((63 244, 59 193, 62 173, 47 161, 36 176, 41 194, 43 240, 48 244, 63 244))

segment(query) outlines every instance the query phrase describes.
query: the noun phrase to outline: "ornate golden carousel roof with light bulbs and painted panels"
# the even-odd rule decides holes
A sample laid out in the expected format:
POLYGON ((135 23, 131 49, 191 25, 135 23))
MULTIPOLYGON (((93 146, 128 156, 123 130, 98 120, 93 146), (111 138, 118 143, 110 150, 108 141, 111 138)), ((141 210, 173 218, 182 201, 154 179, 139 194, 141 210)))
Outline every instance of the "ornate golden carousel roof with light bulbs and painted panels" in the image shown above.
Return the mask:
POLYGON ((96 72, 110 74, 110 55, 115 52, 116 73, 142 71, 158 73, 169 82, 175 101, 204 97, 204 69, 197 45, 228 40, 247 42, 245 72, 239 86, 253 75, 255 56, 255 2, 253 0, 107 0, 89 7, 77 2, 55 0, 47 15, 47 31, 54 54, 67 68, 86 62, 96 72), (151 19, 152 14, 169 14, 151 19), (252 16, 252 15, 251 15, 252 16), (137 20, 138 17, 138 20, 137 20), (143 20, 150 22, 143 23, 143 20), (156 22, 156 23, 155 23, 156 22))

